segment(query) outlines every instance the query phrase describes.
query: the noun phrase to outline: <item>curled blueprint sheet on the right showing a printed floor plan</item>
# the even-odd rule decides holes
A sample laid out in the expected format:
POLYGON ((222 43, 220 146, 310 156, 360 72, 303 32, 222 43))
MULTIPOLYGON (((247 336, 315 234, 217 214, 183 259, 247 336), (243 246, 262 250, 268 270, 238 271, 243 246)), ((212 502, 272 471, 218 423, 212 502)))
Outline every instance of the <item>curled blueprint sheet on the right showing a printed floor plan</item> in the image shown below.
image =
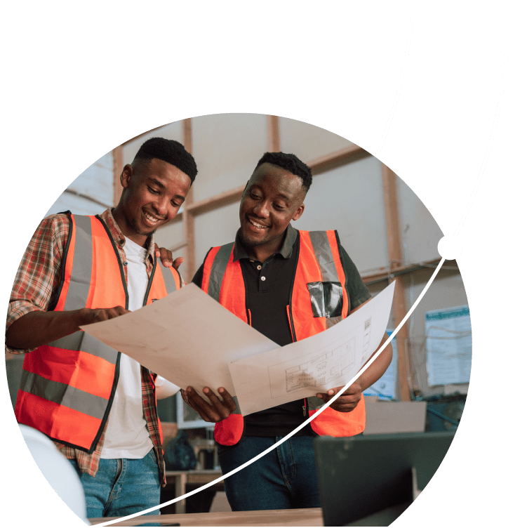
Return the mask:
POLYGON ((380 345, 394 285, 321 334, 230 363, 241 414, 345 385, 380 345))

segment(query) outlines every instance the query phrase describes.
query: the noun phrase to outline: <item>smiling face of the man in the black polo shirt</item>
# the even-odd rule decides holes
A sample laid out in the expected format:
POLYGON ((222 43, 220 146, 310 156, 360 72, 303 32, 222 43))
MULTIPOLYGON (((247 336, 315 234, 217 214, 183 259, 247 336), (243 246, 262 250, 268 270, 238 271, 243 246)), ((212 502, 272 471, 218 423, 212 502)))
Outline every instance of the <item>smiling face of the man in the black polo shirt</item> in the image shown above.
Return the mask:
POLYGON ((280 249, 291 220, 304 212, 302 179, 264 163, 248 181, 240 204, 241 241, 249 255, 263 262, 280 249))

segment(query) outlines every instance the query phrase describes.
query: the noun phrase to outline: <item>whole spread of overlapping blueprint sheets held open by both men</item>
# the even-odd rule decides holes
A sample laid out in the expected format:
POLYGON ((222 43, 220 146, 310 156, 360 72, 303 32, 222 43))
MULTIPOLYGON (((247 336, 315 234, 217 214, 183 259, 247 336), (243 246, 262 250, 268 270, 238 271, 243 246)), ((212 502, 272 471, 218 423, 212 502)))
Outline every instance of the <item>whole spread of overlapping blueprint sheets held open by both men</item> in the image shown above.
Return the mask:
POLYGON ((180 387, 225 387, 246 415, 347 383, 378 348, 393 291, 394 283, 339 324, 285 347, 194 284, 81 329, 180 387))

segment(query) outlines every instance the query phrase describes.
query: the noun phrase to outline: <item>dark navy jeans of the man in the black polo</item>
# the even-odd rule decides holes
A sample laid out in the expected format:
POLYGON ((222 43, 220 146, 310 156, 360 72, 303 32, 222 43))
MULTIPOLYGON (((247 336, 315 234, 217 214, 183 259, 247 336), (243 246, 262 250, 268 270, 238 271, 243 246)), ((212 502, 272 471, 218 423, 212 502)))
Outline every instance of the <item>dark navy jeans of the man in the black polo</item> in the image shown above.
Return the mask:
MULTIPOLYGON (((282 437, 243 437, 231 447, 218 445, 222 473, 241 466, 282 437)), ((250 466, 225 479, 233 511, 319 508, 313 438, 291 437, 250 466)))

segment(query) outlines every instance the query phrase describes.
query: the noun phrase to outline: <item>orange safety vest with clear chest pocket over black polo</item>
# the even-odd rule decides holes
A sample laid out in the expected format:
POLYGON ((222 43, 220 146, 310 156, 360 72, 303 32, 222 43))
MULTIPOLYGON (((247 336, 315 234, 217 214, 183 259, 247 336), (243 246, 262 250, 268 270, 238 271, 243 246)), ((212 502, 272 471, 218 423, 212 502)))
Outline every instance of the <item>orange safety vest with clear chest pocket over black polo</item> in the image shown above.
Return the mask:
MULTIPOLYGON (((338 234, 336 231, 299 231, 300 253, 287 314, 293 341, 300 341, 319 334, 338 323, 349 312, 349 293, 346 289, 345 270, 340 258, 338 234), (335 288, 340 284, 340 289, 335 288), (333 285, 333 286, 331 286, 333 285), (320 317, 314 316, 312 290, 329 286, 326 293, 331 297, 342 292, 338 313, 326 313, 323 295, 319 296, 320 317), (336 292, 336 293, 335 293, 336 292)), ((242 321, 251 324, 251 312, 246 308, 245 284, 239 261, 233 261, 234 242, 215 247, 208 252, 204 262, 201 289, 215 298, 242 321)), ((334 304, 334 301, 333 301, 334 304)), ((317 312, 318 314, 319 312, 317 312)), ((236 398, 235 398, 236 399, 236 398)), ((237 402, 236 402, 237 403, 237 402)), ((312 416, 323 406, 323 400, 316 396, 305 399, 305 409, 312 416)), ((353 436, 361 433, 366 425, 364 400, 349 413, 340 413, 328 407, 310 422, 317 435, 353 436)), ((244 417, 238 406, 225 420, 215 424, 215 440, 222 445, 234 445, 244 433, 244 417)))

